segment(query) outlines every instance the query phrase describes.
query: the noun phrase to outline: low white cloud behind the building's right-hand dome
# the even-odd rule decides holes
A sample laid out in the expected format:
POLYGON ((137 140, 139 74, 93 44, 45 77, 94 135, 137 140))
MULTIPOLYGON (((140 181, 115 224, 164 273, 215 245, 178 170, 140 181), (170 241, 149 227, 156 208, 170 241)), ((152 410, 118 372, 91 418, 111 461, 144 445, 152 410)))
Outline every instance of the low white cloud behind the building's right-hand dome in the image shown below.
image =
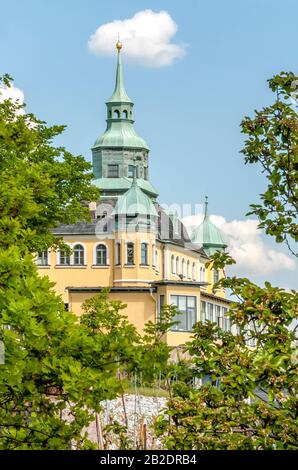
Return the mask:
MULTIPOLYGON (((224 232, 229 253, 237 262, 235 267, 230 268, 233 274, 237 272, 242 276, 257 276, 295 269, 295 261, 292 258, 265 243, 257 220, 227 222, 224 217, 218 215, 211 215, 210 219, 224 232)), ((193 228, 202 220, 202 215, 189 216, 183 218, 183 223, 191 234, 193 228)))

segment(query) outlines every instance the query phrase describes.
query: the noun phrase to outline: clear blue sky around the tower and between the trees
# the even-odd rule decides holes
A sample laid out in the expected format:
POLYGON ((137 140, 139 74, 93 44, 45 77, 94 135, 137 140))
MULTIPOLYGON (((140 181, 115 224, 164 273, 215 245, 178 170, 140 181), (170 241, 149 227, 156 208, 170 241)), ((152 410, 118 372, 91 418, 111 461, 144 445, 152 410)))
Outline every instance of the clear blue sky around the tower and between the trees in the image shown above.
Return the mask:
MULTIPOLYGON (((271 103, 269 77, 297 72, 296 0, 0 0, 0 6, 0 74, 15 78, 38 117, 67 124, 58 143, 88 160, 105 128, 104 102, 115 76, 115 57, 92 54, 90 35, 146 9, 167 11, 178 26, 171 41, 185 48, 185 56, 154 68, 124 57, 135 127, 151 148, 150 179, 161 202, 200 203, 207 192, 211 213, 244 221, 265 181, 257 167, 243 164, 239 124, 271 103)), ((287 251, 268 238, 249 237, 270 258, 267 272, 256 267, 254 279, 295 287, 297 272, 285 258, 278 269, 270 252, 287 251)))

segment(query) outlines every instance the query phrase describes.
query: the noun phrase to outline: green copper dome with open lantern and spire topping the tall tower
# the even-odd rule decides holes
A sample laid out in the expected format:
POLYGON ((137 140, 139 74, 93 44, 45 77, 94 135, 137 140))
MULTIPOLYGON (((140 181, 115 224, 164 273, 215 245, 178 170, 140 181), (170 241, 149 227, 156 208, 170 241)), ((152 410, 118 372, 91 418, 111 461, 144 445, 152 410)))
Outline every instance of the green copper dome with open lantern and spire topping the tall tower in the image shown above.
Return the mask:
POLYGON ((118 49, 115 89, 107 105, 107 128, 103 135, 96 139, 95 148, 127 147, 149 150, 147 143, 133 127, 133 102, 126 93, 120 49, 118 49))

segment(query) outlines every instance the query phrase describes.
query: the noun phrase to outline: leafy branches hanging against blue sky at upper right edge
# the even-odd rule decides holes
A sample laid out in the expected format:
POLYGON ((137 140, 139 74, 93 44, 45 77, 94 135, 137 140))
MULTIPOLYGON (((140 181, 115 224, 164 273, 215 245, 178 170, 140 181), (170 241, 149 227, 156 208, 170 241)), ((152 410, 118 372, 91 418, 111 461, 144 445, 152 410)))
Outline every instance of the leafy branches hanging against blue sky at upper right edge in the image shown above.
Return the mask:
POLYGON ((276 93, 274 104, 241 123, 248 136, 242 150, 245 163, 260 163, 268 180, 261 203, 252 204, 248 215, 257 215, 260 228, 290 248, 290 242, 298 240, 298 77, 282 72, 268 83, 276 93))

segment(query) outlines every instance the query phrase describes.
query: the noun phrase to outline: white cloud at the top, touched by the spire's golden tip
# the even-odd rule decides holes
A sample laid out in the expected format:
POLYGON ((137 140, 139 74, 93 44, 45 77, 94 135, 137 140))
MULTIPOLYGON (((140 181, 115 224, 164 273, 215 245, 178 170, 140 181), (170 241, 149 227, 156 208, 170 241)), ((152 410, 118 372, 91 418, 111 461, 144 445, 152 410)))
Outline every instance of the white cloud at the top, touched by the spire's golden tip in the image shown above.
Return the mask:
POLYGON ((122 53, 131 62, 147 67, 164 67, 185 55, 184 44, 171 42, 177 29, 168 12, 143 10, 132 18, 99 26, 90 36, 88 47, 96 55, 114 55, 119 33, 122 53))

